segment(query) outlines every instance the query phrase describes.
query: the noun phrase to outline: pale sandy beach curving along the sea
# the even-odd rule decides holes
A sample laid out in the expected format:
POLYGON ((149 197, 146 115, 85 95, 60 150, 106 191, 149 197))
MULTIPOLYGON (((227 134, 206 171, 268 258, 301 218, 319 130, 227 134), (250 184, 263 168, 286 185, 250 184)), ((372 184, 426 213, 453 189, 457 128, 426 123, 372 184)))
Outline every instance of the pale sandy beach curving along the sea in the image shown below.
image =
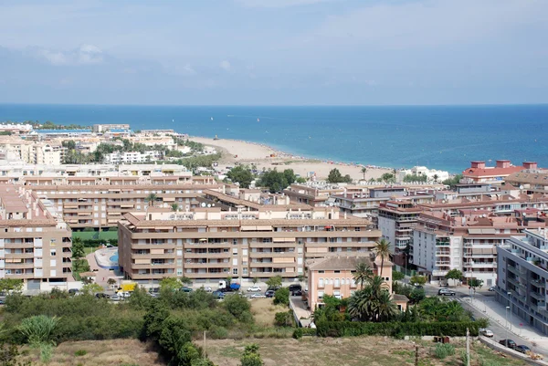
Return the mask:
MULTIPOLYGON (((318 180, 325 179, 329 172, 337 168, 342 175, 349 174, 355 182, 364 179, 362 165, 354 165, 343 162, 329 162, 295 156, 286 152, 279 152, 267 145, 248 141, 209 139, 204 137, 190 137, 190 140, 214 146, 224 152, 220 162, 221 166, 232 166, 235 162, 240 164, 255 164, 259 170, 262 168, 278 170, 292 169, 295 173, 306 177, 308 173, 316 173, 318 180)), ((384 173, 392 173, 392 169, 366 166, 365 180, 379 178, 384 173)))

